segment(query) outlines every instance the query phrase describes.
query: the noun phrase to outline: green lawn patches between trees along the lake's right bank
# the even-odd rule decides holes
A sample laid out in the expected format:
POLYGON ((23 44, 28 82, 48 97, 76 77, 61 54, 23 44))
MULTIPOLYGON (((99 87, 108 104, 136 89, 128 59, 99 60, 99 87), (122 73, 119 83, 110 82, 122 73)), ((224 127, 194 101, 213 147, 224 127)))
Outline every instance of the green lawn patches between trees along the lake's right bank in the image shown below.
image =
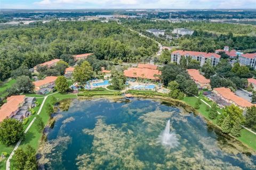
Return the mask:
MULTIPOLYGON (((202 95, 199 95, 199 98, 203 97, 202 95)), ((195 107, 197 98, 196 97, 185 97, 183 99, 183 101, 185 101, 188 105, 195 107)), ((207 102, 210 105, 213 104, 213 102, 207 102)), ((206 104, 202 102, 202 104, 200 105, 200 108, 197 109, 197 111, 199 113, 201 113, 207 120, 213 122, 213 124, 216 124, 216 119, 215 120, 211 120, 209 118, 209 112, 206 111, 206 104)), ((222 113, 222 109, 218 109, 218 111, 220 111, 220 113, 222 113)), ((256 150, 256 135, 245 130, 242 129, 241 131, 241 137, 237 138, 237 140, 245 143, 245 145, 251 147, 252 149, 256 150)))

